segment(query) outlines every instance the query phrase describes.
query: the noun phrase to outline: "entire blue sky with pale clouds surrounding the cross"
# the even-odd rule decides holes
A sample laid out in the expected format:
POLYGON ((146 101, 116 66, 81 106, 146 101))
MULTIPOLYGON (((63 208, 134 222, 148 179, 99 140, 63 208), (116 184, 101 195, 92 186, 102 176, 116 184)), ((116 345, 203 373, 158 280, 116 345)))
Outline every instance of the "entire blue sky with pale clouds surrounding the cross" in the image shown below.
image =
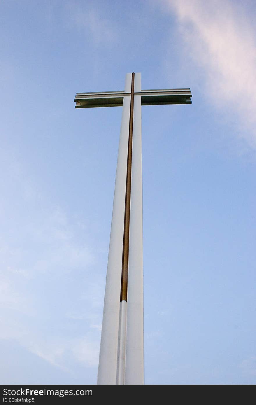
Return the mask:
POLYGON ((2 384, 95 384, 121 108, 142 107, 146 384, 255 384, 253 1, 3 0, 2 384))

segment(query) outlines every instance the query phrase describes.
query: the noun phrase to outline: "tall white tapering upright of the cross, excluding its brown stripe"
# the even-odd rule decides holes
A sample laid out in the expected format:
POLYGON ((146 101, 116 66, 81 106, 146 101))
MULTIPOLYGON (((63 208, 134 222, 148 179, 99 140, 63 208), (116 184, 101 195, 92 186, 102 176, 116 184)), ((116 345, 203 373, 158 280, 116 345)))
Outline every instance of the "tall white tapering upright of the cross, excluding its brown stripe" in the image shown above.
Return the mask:
MULTIPOLYGON (((125 93, 133 91, 131 83, 132 75, 129 73, 125 79, 125 93)), ((140 73, 135 73, 134 93, 140 90, 140 73)), ((144 384, 141 96, 136 94, 133 103, 130 94, 123 98, 97 384, 144 384), (132 108, 133 111, 130 111, 132 108), (126 298, 121 301, 131 123, 128 284, 127 301, 126 298)))

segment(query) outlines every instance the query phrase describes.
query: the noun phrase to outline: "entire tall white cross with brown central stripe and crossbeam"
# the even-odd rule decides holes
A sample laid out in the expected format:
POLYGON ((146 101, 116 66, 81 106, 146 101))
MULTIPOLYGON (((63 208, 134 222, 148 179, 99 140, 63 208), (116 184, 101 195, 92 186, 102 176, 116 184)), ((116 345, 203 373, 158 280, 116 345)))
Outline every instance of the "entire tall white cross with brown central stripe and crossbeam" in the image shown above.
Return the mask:
POLYGON ((123 106, 97 384, 144 384, 141 106, 191 104, 189 88, 77 93, 75 108, 123 106))

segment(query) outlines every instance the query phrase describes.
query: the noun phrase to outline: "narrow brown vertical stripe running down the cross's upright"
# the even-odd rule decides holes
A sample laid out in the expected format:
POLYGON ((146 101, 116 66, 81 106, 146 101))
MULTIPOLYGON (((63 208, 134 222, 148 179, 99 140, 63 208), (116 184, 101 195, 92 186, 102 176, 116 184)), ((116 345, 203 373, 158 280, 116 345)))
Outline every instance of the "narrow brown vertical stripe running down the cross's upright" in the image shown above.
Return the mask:
POLYGON ((125 190, 125 223, 124 223, 124 237, 123 237, 123 260, 122 260, 120 301, 127 301, 130 205, 131 205, 131 156, 132 156, 132 136, 133 136, 133 104, 134 104, 134 72, 131 74, 131 104, 130 104, 128 153, 127 153, 127 172, 126 172, 126 190, 125 190))

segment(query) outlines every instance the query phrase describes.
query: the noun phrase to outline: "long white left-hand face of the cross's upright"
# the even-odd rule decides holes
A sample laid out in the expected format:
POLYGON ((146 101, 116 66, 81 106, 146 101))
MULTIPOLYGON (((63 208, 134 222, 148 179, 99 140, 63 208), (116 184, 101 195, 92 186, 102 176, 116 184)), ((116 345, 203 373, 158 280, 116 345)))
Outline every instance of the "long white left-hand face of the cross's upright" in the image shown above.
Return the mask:
MULTIPOLYGON (((131 73, 128 73, 125 78, 125 92, 130 91, 131 73)), ((125 96, 116 167, 97 384, 116 384, 129 113, 130 96, 125 96)))

